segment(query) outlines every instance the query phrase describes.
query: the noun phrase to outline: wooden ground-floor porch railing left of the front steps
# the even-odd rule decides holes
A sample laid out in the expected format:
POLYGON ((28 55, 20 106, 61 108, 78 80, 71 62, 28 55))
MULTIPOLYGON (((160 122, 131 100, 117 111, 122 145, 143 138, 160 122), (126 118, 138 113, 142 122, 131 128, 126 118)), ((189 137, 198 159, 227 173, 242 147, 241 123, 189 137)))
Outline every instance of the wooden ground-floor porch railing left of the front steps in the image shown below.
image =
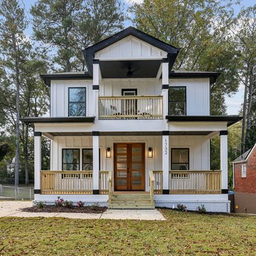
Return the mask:
MULTIPOLYGON (((99 172, 100 194, 108 194, 108 171, 99 172)), ((42 194, 93 194, 93 171, 41 171, 42 194)))

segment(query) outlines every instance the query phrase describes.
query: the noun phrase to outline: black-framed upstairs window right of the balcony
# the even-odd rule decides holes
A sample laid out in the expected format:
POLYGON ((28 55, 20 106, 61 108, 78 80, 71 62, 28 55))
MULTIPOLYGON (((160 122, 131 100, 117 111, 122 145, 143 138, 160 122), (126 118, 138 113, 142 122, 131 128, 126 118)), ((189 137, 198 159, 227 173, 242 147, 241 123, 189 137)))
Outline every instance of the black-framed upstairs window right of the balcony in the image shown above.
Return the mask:
POLYGON ((169 116, 186 116, 186 87, 169 87, 169 116))

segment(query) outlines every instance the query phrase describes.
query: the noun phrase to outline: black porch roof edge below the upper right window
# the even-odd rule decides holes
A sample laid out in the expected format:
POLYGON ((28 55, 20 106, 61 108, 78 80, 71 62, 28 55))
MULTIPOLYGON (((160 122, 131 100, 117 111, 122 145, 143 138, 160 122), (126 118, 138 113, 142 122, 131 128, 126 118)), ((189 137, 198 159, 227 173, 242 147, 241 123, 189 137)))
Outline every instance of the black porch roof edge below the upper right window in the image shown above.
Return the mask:
POLYGON ((242 116, 166 116, 169 122, 171 121, 226 121, 228 126, 243 119, 242 116))

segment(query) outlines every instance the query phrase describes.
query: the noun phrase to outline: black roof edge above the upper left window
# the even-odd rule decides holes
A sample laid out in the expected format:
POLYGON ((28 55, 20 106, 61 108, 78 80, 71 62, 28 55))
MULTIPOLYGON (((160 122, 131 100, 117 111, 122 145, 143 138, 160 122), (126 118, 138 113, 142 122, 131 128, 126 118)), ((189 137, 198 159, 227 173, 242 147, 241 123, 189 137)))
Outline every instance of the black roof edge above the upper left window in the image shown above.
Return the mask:
POLYGON ((51 80, 68 80, 68 79, 93 79, 88 72, 66 72, 55 74, 41 74, 41 79, 45 85, 51 86, 51 80))

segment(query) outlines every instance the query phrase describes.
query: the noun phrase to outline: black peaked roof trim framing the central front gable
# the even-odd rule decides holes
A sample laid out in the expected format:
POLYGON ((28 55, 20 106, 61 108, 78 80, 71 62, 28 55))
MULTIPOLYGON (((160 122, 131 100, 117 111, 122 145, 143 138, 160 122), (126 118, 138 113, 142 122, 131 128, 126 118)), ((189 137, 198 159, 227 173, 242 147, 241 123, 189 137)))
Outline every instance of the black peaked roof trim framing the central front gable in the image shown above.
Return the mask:
POLYGON ((93 74, 93 59, 95 58, 96 52, 116 43, 117 41, 120 41, 121 39, 129 35, 133 35, 134 37, 137 37, 138 39, 145 41, 146 43, 149 43, 150 45, 153 45, 154 47, 157 47, 167 52, 170 63, 169 68, 172 68, 175 59, 177 58, 177 55, 180 51, 179 48, 173 47, 172 45, 169 45, 159 39, 156 39, 156 37, 152 37, 147 33, 137 30, 137 28, 129 27, 83 50, 83 55, 85 56, 85 62, 87 64, 89 74, 93 74))

